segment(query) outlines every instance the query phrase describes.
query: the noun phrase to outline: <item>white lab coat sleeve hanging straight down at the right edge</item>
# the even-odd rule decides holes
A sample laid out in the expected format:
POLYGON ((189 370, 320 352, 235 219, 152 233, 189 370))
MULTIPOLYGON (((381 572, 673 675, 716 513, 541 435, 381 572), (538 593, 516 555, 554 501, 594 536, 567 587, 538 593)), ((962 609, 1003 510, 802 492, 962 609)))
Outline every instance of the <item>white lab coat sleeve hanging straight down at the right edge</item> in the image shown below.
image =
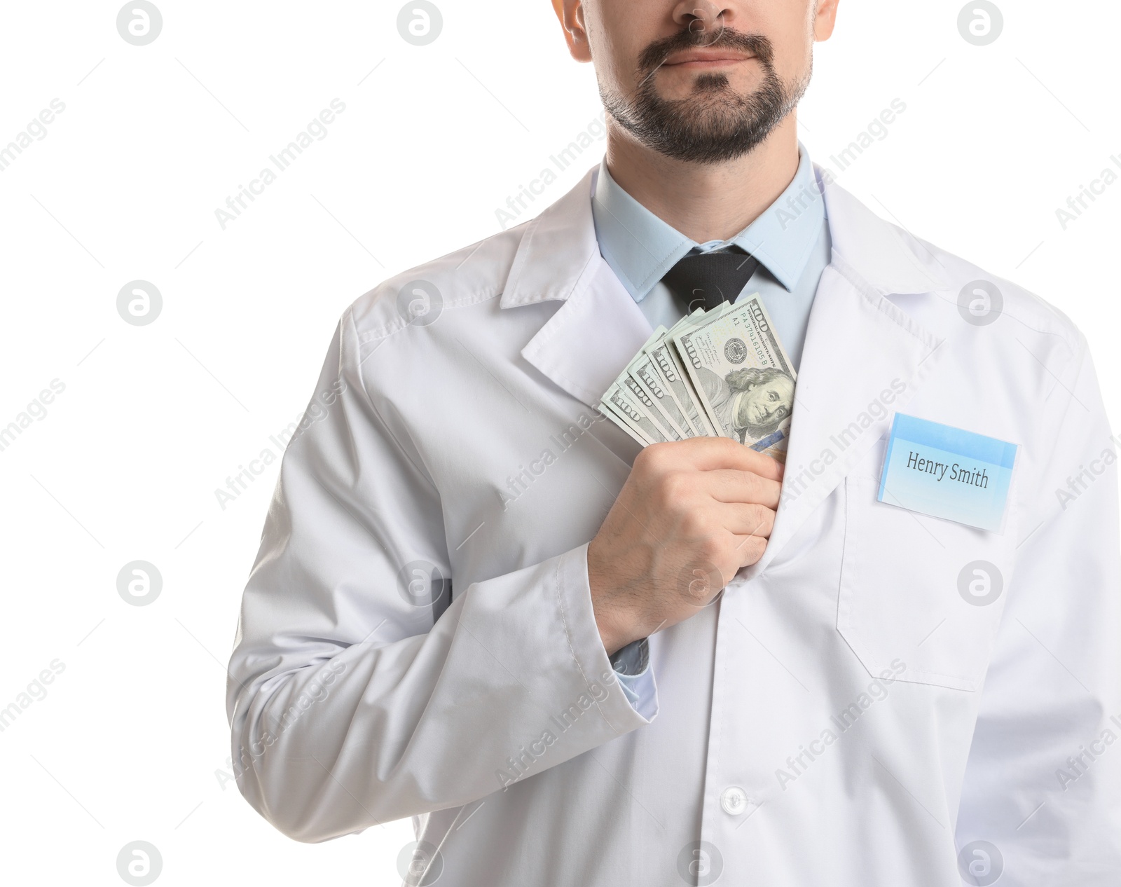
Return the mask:
POLYGON ((1047 372, 957 849, 976 867, 965 883, 999 865, 1002 887, 1106 887, 1121 883, 1118 447, 1085 340, 1047 372))

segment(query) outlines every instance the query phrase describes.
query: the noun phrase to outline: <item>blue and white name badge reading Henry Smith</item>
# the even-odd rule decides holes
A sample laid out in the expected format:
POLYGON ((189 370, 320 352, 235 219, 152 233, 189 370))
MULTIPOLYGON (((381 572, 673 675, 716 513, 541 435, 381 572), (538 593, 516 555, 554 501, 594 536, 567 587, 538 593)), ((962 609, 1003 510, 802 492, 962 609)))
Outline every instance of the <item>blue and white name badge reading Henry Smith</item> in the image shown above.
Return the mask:
POLYGON ((1018 444, 897 413, 877 499, 1001 533, 1018 444))

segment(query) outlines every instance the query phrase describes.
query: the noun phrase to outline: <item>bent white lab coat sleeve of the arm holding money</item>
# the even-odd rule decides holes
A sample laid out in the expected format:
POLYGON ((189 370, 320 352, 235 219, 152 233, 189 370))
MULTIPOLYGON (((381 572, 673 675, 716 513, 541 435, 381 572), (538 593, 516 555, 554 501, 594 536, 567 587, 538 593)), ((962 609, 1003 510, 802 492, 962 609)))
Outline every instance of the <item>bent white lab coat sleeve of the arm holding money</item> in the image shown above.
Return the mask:
POLYGON ((417 562, 450 573, 444 503, 356 353, 348 311, 281 461, 229 668, 239 788, 307 842, 466 804, 649 722, 600 639, 586 544, 456 588, 435 622, 410 598, 417 562))

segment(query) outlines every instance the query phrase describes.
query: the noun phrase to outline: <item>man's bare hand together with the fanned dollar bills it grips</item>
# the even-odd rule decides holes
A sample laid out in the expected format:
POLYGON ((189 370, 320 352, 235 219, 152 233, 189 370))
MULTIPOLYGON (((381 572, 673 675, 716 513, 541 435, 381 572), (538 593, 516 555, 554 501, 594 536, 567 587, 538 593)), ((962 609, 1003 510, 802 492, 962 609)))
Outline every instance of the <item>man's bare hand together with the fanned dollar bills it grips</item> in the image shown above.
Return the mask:
POLYGON ((600 410, 646 446, 587 546, 609 655, 695 615, 762 557, 795 378, 756 294, 659 327, 606 390, 600 410))

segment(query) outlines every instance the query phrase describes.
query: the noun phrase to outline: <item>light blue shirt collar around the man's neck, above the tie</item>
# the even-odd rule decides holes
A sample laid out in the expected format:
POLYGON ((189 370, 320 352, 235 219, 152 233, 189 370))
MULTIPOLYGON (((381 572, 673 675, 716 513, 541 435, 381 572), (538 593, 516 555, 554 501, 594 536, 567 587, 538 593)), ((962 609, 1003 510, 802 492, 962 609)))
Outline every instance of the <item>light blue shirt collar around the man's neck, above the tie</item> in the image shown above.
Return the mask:
POLYGON ((708 252, 732 244, 759 259, 789 292, 800 279, 825 222, 825 204, 802 142, 798 158, 794 179, 762 215, 730 240, 707 243, 689 240, 623 191, 604 159, 592 194, 600 253, 636 302, 646 298, 692 250, 708 252))

